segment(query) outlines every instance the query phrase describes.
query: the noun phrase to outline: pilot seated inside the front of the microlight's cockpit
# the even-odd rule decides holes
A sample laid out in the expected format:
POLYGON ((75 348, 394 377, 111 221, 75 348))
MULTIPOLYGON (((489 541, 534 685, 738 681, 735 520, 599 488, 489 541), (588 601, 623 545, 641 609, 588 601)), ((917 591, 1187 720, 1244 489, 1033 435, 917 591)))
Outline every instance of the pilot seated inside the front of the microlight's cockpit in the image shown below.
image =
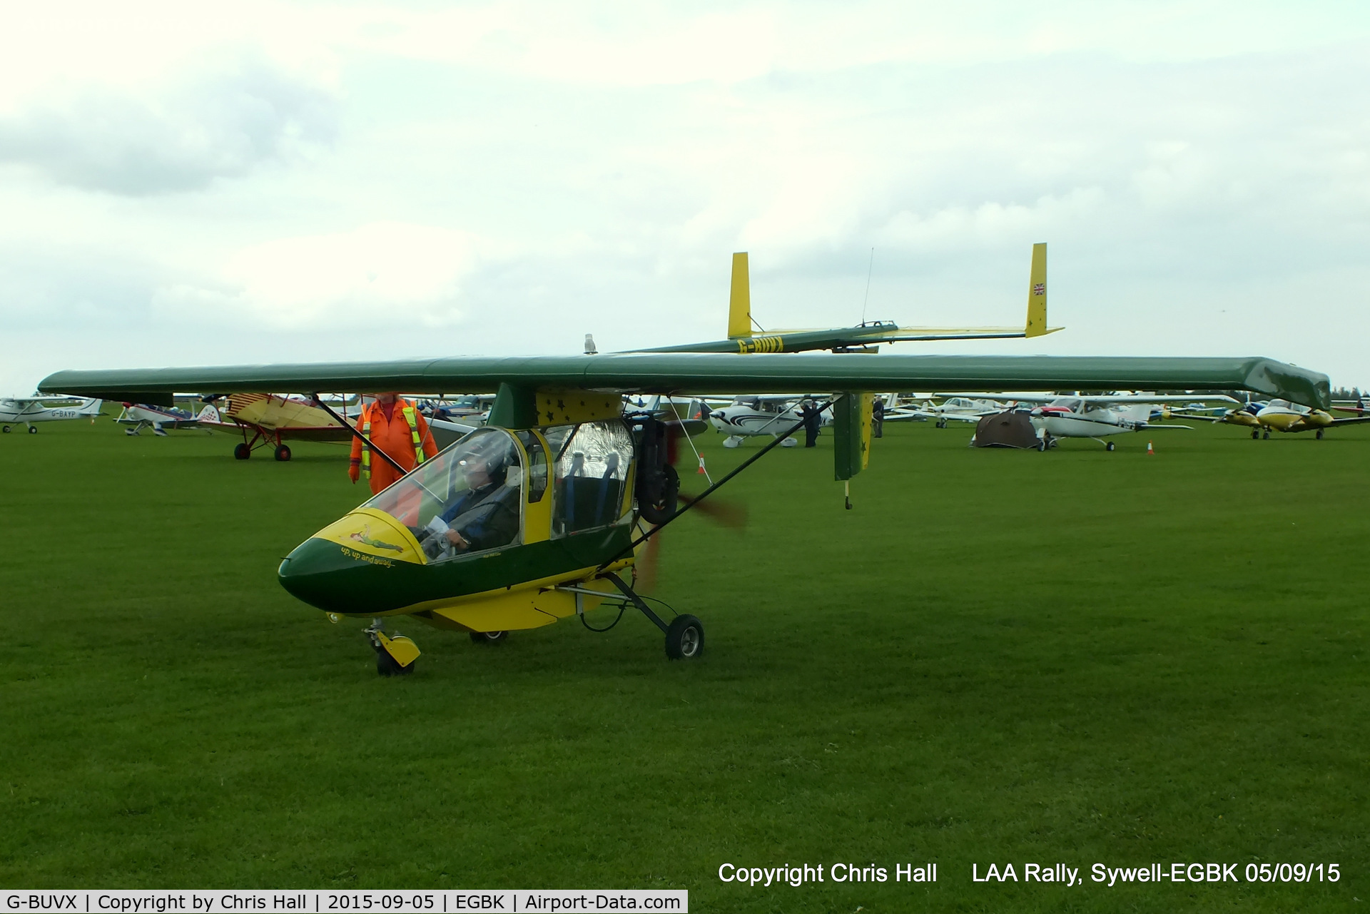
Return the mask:
POLYGON ((466 489, 429 522, 429 558, 493 549, 518 536, 519 467, 508 454, 475 454, 460 462, 466 489))

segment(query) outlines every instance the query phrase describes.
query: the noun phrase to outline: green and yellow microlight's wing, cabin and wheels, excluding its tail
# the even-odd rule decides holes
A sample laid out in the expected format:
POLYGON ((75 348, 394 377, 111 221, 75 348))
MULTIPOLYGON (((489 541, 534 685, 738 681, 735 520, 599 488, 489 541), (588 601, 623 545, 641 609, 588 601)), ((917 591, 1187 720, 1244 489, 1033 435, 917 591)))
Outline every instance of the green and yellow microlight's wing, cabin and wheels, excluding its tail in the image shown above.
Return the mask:
MULTIPOLYGON (((627 354, 59 371, 44 393, 171 403, 175 391, 497 391, 489 423, 295 548, 286 591, 366 629, 382 674, 418 647, 384 630, 414 617, 493 641, 603 603, 636 607, 670 658, 696 658, 704 626, 662 619, 632 586, 634 549, 781 439, 695 499, 677 499, 667 425, 625 417, 622 396, 834 391, 834 477, 870 455, 871 391, 1240 389, 1326 407, 1328 377, 1260 358, 627 354), (630 580, 625 580, 625 574, 630 580)), ((341 419, 340 419, 341 422, 341 419)), ((351 426, 349 426, 351 428, 351 426)), ((796 429, 790 429, 793 433, 796 429)), ((377 451, 379 458, 386 455, 377 451)), ((848 502, 849 507, 849 502, 848 502)), ((586 628, 590 628, 585 622, 586 628)))

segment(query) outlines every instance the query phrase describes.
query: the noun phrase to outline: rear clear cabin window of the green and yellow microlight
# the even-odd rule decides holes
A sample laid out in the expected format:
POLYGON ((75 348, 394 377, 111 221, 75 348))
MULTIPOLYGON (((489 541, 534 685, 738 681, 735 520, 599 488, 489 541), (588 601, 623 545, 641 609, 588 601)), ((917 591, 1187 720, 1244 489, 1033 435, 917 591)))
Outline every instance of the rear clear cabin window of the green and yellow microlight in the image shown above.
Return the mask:
MULTIPOLYGON (((633 462, 633 436, 622 419, 585 422, 547 430, 560 445, 552 503, 552 536, 603 528, 623 519, 623 486, 633 462)), ((556 445, 553 445, 556 447, 556 445)))

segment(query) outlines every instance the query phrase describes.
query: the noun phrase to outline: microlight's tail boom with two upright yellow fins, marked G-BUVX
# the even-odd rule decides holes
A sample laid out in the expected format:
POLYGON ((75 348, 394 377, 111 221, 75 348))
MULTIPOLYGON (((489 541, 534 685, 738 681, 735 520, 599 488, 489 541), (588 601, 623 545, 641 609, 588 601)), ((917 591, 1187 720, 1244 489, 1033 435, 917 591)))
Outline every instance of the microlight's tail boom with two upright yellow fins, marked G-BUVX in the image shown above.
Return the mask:
MULTIPOLYGON (((863 321, 854 328, 827 330, 760 330, 752 332, 751 277, 745 252, 733 255, 733 281, 727 299, 727 338, 708 343, 633 349, 633 352, 806 352, 832 349, 833 352, 873 351, 881 343, 914 343, 925 340, 1010 340, 1038 337, 1062 328, 1047 326, 1047 245, 1032 248, 1032 270, 1028 278, 1028 321, 1022 328, 915 328, 893 321, 863 321)), ((589 334, 586 354, 593 354, 589 334)))

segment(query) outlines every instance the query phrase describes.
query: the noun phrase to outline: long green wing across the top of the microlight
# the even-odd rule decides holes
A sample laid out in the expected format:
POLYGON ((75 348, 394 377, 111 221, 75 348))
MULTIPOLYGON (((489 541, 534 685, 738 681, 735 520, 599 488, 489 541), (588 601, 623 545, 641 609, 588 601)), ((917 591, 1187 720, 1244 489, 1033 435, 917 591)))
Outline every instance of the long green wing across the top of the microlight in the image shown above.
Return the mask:
POLYGON ((1328 375, 1262 358, 647 352, 58 371, 38 391, 170 404, 177 391, 489 393, 501 384, 625 393, 1251 391, 1319 408, 1328 408, 1332 396, 1328 375))

